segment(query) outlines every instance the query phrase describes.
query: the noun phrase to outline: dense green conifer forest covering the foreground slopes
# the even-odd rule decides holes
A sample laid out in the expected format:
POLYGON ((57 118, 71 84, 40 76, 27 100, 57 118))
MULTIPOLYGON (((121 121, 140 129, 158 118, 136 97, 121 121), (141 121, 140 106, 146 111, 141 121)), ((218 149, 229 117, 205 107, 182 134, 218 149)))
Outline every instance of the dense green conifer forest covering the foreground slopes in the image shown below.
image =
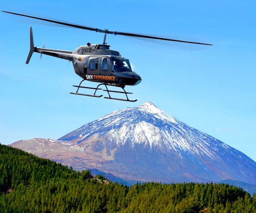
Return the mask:
POLYGON ((256 212, 256 194, 215 183, 113 183, 0 144, 1 213, 256 212))

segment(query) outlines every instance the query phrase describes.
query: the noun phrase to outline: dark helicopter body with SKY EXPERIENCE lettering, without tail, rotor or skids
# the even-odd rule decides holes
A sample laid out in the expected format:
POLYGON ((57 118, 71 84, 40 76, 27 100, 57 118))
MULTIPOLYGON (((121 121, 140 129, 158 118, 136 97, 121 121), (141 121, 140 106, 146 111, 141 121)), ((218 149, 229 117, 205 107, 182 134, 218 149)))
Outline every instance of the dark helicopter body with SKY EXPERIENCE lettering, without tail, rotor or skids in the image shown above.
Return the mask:
POLYGON ((127 58, 110 50, 108 45, 80 46, 72 60, 75 72, 87 81, 108 82, 120 85, 137 85, 140 75, 133 72, 127 58))

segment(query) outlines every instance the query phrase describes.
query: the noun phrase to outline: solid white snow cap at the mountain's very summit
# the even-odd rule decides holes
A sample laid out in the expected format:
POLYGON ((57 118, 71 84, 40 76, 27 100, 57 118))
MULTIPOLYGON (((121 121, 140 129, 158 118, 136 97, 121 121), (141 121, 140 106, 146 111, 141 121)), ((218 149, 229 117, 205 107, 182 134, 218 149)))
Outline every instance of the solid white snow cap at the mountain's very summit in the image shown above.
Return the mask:
POLYGON ((147 112, 150 114, 153 114, 156 118, 162 118, 166 119, 168 121, 171 121, 172 123, 177 124, 177 120, 172 117, 171 115, 167 114, 166 112, 163 112, 163 110, 157 108, 156 105, 154 105, 152 102, 148 101, 139 107, 137 107, 140 111, 147 112))

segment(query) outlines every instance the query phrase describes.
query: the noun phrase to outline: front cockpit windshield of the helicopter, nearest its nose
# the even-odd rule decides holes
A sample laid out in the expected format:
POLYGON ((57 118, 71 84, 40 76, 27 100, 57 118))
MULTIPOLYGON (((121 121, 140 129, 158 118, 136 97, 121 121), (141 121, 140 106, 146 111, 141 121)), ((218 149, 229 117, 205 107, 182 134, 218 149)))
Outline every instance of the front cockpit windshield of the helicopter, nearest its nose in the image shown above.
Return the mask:
POLYGON ((112 72, 132 72, 131 64, 127 58, 110 57, 112 72))

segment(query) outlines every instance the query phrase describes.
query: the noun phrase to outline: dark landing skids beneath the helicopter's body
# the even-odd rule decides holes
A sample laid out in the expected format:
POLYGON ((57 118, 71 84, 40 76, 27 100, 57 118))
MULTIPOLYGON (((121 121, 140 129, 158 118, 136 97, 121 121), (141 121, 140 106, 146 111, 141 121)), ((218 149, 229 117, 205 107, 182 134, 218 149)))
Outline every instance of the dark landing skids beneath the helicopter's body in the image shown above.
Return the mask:
POLYGON ((85 96, 100 98, 100 97, 102 97, 103 95, 96 95, 96 92, 97 92, 98 90, 102 90, 101 88, 99 88, 99 86, 105 85, 106 89, 103 89, 103 91, 108 92, 108 97, 104 97, 104 98, 113 99, 113 100, 118 100, 118 101, 129 101, 129 102, 135 102, 135 101, 137 101, 137 99, 136 99, 136 100, 130 100, 130 99, 128 98, 128 95, 127 95, 127 94, 132 94, 132 92, 126 92, 125 89, 124 89, 123 87, 121 87, 121 86, 116 86, 116 87, 122 88, 124 92, 115 91, 115 90, 109 90, 109 89, 108 89, 108 86, 115 86, 115 85, 108 85, 107 83, 100 83, 96 88, 94 88, 94 87, 88 87, 88 86, 81 86, 81 83, 82 83, 83 81, 85 81, 85 79, 82 80, 82 81, 79 83, 79 86, 73 85, 74 87, 77 87, 77 90, 76 90, 76 92, 70 92, 70 94, 73 94, 73 95, 85 95, 85 96), (108 85, 108 86, 107 86, 107 85, 108 85), (95 91, 94 91, 93 95, 84 94, 84 93, 79 93, 79 92, 78 92, 80 88, 84 88, 84 89, 94 89, 95 91), (125 94, 126 99, 122 99, 122 98, 112 98, 111 95, 110 95, 110 92, 123 93, 123 94, 125 94))

